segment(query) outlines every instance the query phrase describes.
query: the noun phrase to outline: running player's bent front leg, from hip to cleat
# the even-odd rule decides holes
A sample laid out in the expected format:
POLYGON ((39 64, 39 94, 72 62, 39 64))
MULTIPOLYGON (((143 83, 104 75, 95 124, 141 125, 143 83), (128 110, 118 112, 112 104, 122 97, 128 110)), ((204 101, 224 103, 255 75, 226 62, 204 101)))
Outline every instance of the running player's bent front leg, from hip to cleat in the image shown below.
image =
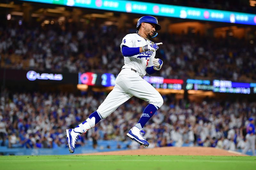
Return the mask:
POLYGON ((130 94, 145 101, 148 101, 148 106, 143 111, 139 122, 130 129, 127 136, 138 142, 148 146, 148 141, 142 136, 144 125, 148 120, 155 114, 156 110, 163 105, 163 98, 156 89, 150 85, 147 81, 137 75, 135 72, 131 71, 128 75, 124 75, 121 78, 130 80, 131 83, 123 83, 122 87, 127 90, 130 94), (133 75, 133 76, 131 76, 133 75))

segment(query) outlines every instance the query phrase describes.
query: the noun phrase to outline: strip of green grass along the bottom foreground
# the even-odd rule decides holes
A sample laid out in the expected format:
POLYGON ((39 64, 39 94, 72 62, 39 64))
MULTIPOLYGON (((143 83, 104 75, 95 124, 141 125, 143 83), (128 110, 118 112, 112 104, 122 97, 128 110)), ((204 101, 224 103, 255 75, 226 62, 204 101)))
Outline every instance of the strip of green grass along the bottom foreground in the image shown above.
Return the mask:
POLYGON ((240 156, 0 156, 0 169, 35 170, 255 170, 256 157, 240 156))

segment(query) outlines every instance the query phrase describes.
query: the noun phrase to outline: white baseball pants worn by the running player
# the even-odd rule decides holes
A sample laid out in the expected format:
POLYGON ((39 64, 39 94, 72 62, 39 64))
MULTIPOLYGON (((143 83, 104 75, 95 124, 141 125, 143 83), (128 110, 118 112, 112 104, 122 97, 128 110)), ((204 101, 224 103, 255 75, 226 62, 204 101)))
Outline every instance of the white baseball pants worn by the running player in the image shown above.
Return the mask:
POLYGON ((114 89, 108 94, 97 111, 103 118, 106 118, 132 96, 148 101, 149 104, 157 107, 161 107, 164 103, 160 93, 141 78, 138 72, 123 69, 116 78, 114 89))

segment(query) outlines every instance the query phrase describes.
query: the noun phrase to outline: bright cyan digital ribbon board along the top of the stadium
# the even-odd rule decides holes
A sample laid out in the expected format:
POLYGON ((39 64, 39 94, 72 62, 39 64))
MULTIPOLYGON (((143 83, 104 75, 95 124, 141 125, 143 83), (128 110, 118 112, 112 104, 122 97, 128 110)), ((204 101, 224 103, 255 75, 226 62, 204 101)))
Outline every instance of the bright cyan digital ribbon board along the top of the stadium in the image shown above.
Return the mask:
POLYGON ((146 15, 187 18, 205 21, 256 25, 256 15, 241 12, 211 10, 167 4, 124 0, 26 0, 46 4, 58 4, 98 10, 138 13, 146 15))

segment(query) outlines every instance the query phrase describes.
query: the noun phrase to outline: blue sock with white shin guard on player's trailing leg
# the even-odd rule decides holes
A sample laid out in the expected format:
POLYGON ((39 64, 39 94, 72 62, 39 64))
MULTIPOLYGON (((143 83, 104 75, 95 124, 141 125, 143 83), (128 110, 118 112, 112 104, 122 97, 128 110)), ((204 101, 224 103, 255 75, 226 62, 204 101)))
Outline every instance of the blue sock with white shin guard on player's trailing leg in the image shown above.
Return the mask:
POLYGON ((76 133, 85 133, 87 130, 93 128, 95 124, 100 122, 102 119, 101 115, 95 111, 93 112, 88 119, 86 119, 84 122, 80 123, 78 126, 74 128, 74 131, 76 133))

